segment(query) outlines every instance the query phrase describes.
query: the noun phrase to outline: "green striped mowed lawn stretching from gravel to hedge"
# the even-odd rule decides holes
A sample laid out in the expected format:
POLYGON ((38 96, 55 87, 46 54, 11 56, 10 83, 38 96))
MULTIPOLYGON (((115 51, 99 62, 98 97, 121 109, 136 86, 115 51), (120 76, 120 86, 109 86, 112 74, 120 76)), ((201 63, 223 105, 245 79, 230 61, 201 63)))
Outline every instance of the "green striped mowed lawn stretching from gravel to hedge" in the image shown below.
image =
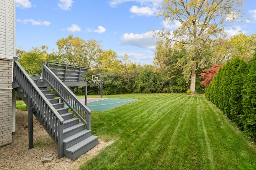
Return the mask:
POLYGON ((115 142, 80 169, 256 169, 251 139, 204 95, 104 97, 138 100, 105 112, 92 111, 93 135, 115 142))

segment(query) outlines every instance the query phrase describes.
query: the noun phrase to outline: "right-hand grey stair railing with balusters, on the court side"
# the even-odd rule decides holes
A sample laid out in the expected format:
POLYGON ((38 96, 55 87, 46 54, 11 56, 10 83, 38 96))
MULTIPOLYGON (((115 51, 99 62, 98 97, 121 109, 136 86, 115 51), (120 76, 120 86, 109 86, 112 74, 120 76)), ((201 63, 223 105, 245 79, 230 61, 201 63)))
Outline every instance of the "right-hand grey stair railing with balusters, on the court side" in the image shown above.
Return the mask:
POLYGON ((76 116, 86 124, 88 130, 91 130, 91 115, 92 112, 85 106, 73 92, 42 62, 42 77, 43 81, 56 92, 62 101, 76 114, 76 116))

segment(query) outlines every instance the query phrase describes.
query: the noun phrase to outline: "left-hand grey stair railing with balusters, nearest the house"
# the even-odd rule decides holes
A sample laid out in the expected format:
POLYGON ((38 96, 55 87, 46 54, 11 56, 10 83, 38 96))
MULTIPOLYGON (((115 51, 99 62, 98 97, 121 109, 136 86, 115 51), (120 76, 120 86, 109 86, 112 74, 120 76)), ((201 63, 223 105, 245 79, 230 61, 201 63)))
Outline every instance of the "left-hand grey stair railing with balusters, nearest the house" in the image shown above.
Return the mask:
POLYGON ((64 119, 44 96, 35 82, 18 62, 18 57, 14 57, 13 82, 23 90, 26 97, 31 98, 31 104, 36 112, 44 121, 47 129, 52 135, 52 139, 58 142, 58 157, 64 156, 63 148, 63 123, 64 119))

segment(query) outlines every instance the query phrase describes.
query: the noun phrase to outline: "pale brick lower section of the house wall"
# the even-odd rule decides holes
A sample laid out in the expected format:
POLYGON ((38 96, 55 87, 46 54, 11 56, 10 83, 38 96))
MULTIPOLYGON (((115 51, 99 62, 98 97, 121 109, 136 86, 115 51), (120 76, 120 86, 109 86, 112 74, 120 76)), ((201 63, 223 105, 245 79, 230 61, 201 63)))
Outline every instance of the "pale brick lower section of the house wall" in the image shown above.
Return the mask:
POLYGON ((12 143, 12 60, 0 58, 0 146, 12 143))

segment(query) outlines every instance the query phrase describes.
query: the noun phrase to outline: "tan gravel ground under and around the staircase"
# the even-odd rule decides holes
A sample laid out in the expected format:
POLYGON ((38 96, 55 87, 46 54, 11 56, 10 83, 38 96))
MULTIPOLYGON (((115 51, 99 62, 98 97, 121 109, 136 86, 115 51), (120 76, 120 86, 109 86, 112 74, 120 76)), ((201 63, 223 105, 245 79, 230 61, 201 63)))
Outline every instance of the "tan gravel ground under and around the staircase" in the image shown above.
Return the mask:
POLYGON ((101 149, 111 145, 98 139, 98 145, 76 160, 65 156, 58 159, 58 146, 34 117, 34 148, 28 149, 28 111, 16 109, 16 132, 12 135, 12 143, 0 147, 1 170, 72 170, 97 155, 101 149), (52 162, 42 163, 45 156, 52 154, 52 162))

